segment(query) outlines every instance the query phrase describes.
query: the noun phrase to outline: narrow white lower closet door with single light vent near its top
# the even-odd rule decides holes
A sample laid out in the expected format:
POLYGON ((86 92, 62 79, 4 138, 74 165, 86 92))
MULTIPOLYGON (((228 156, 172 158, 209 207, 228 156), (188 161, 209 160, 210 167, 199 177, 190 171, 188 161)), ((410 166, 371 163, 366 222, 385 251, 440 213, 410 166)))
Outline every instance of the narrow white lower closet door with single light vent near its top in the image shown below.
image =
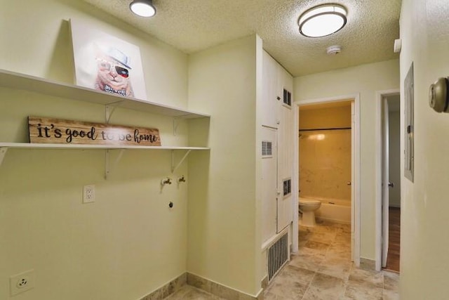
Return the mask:
POLYGON ((276 129, 262 126, 262 241, 276 235, 276 129))

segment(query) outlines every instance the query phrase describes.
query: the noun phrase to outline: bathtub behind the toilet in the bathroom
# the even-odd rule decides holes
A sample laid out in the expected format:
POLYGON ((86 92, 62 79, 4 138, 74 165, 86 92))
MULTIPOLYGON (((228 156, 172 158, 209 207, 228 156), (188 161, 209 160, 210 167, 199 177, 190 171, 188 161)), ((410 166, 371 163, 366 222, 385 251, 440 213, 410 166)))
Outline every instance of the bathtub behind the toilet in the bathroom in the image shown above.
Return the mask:
POLYGON ((316 197, 315 199, 321 201, 321 207, 315 211, 317 219, 351 223, 351 201, 321 197, 316 197))

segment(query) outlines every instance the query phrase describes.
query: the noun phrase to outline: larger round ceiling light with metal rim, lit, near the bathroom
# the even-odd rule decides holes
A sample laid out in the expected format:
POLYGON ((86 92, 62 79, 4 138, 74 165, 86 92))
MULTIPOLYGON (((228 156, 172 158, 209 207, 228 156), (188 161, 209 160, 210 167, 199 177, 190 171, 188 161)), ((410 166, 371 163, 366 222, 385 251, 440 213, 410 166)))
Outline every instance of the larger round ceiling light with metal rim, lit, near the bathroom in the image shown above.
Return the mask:
POLYGON ((346 15, 346 8, 338 4, 315 6, 300 15, 300 33, 305 37, 326 37, 346 25, 346 15))

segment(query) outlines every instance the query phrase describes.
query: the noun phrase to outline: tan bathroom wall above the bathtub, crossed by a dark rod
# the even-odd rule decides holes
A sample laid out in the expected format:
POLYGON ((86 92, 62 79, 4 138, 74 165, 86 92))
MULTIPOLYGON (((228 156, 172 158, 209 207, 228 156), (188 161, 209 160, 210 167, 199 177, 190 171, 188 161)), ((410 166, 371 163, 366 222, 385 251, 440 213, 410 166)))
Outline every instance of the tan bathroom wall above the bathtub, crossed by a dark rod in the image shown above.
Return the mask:
MULTIPOLYGON (((351 127, 351 106, 300 110, 301 129, 351 127)), ((300 195, 351 201, 351 129, 300 131, 300 195)))

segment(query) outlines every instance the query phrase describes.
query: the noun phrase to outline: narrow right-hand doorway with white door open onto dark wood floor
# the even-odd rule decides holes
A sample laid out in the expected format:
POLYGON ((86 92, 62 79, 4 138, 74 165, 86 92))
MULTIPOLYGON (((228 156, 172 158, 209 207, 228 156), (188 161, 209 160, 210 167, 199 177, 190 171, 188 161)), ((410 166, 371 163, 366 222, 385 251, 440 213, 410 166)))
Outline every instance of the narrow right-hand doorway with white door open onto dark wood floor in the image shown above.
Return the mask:
POLYGON ((377 93, 376 269, 399 273, 401 240, 401 110, 398 90, 377 93))

